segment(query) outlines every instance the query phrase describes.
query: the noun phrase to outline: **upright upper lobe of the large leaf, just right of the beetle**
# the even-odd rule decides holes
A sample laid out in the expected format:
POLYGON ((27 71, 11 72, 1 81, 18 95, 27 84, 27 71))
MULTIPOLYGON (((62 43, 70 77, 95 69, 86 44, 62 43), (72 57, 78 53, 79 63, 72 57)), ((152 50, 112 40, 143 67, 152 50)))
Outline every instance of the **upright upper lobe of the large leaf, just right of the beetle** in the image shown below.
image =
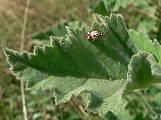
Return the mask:
POLYGON ((129 36, 123 17, 112 14, 110 17, 99 16, 98 19, 99 23, 95 23, 92 30, 103 31, 104 37, 93 44, 110 58, 128 65, 138 50, 129 36))

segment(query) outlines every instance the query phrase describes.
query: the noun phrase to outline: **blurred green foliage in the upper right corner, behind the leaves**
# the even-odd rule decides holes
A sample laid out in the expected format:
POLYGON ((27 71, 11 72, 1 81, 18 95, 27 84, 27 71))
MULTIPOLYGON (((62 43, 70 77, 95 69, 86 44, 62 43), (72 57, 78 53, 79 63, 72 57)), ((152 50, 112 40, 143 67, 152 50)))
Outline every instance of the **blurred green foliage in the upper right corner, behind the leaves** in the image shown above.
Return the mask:
POLYGON ((160 8, 158 4, 158 0, 89 0, 89 8, 93 13, 122 13, 127 17, 128 26, 153 36, 156 36, 160 22, 156 16, 160 8))

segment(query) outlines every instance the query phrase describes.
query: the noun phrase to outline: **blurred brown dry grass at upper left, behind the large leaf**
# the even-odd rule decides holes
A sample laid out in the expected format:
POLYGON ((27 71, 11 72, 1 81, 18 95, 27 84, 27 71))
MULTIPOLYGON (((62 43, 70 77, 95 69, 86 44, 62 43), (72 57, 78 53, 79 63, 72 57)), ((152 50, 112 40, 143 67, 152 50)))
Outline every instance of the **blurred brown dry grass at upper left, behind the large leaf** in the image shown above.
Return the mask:
MULTIPOLYGON (((19 46, 25 5, 22 0, 0 0, 1 44, 10 48, 19 46)), ((26 36, 62 19, 69 20, 69 12, 77 15, 80 20, 88 20, 85 0, 32 0, 26 36)))

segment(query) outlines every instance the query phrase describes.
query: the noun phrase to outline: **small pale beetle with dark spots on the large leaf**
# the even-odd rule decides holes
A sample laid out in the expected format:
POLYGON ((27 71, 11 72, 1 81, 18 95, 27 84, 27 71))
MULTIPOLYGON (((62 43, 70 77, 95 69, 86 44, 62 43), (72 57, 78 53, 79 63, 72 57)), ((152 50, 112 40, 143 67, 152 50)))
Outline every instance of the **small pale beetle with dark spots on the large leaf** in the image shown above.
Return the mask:
POLYGON ((99 37, 101 37, 103 34, 99 31, 91 31, 91 32, 88 32, 87 34, 85 34, 85 37, 90 39, 90 40, 95 40, 99 37))

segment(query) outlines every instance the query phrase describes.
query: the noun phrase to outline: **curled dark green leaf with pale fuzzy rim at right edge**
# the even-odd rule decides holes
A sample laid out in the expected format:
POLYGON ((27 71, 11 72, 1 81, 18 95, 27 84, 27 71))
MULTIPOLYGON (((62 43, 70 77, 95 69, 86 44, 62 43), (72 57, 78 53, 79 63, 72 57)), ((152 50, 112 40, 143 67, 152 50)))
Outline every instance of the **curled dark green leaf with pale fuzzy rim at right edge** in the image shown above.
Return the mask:
POLYGON ((139 52, 131 59, 127 79, 128 91, 160 83, 161 67, 152 54, 139 52))

